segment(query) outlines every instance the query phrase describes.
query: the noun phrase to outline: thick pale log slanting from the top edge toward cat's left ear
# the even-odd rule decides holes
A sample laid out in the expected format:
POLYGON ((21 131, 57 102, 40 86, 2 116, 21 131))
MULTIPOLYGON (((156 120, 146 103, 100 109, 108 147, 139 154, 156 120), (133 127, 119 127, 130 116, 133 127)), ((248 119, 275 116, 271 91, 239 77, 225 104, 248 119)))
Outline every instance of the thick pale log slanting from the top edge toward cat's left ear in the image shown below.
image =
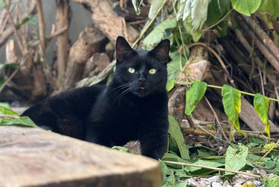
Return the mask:
MULTIPOLYGON (((75 2, 85 4, 90 7, 93 12, 92 20, 95 27, 99 28, 100 31, 106 37, 115 43, 117 36, 124 36, 124 28, 120 27, 122 19, 113 11, 112 5, 109 1, 104 0, 74 0, 75 2)), ((138 37, 138 31, 131 25, 127 26, 127 41, 132 42, 138 37)))

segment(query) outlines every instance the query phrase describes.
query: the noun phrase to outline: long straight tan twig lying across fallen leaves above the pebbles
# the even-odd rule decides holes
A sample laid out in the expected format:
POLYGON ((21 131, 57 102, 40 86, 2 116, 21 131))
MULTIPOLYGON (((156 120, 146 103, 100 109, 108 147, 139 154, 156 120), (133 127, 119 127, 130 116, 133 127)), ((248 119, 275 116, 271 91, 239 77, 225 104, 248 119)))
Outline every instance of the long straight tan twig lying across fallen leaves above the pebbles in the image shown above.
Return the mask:
POLYGON ((243 172, 243 171, 228 170, 228 169, 219 168, 219 167, 201 166, 201 165, 197 165, 197 164, 188 164, 188 163, 183 163, 183 162, 173 162, 173 161, 165 161, 165 160, 163 160, 163 162, 168 163, 168 164, 177 164, 177 165, 182 165, 182 166, 200 167, 200 168, 205 168, 205 169, 210 169, 210 170, 225 171, 225 172, 237 173, 237 174, 242 174, 242 175, 248 175, 248 176, 255 177, 255 178, 262 178, 260 175, 246 173, 246 172, 243 172))

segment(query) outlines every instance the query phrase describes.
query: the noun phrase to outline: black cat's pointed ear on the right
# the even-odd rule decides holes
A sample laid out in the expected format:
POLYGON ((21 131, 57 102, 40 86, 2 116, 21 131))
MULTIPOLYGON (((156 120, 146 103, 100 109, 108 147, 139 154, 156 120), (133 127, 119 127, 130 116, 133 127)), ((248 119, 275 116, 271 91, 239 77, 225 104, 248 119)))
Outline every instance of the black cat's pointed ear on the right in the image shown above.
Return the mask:
POLYGON ((150 53, 157 59, 161 60, 162 63, 167 64, 168 56, 170 52, 170 41, 168 39, 162 40, 150 53))

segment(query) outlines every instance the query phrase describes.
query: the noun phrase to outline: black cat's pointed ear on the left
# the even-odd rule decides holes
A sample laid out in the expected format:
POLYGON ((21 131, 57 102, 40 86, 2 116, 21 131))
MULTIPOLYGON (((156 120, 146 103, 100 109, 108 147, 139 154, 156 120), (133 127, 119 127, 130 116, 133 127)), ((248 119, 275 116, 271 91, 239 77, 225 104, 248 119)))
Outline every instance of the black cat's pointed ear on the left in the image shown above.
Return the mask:
POLYGON ((116 59, 122 61, 134 53, 134 49, 125 38, 118 36, 116 39, 116 59))

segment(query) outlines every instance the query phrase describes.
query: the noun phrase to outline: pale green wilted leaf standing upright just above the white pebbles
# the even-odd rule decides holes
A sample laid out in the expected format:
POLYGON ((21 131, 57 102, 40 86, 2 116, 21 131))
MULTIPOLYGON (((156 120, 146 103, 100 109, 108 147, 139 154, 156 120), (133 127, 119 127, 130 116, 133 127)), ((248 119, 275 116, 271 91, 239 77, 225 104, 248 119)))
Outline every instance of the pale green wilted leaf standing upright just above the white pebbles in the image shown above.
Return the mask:
MULTIPOLYGON (((225 169, 240 171, 246 165, 248 147, 238 143, 236 148, 229 146, 226 152, 225 169)), ((225 172, 225 175, 234 175, 231 172, 225 172)))

